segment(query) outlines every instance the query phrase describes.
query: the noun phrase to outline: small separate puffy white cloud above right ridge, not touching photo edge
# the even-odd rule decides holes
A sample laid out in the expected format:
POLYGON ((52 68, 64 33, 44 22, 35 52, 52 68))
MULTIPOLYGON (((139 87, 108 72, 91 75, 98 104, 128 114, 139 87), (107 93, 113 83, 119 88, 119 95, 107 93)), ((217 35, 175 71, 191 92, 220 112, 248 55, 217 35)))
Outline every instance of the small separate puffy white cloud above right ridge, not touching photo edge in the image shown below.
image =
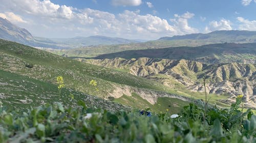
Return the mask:
POLYGON ((231 22, 226 19, 221 19, 220 21, 211 21, 209 25, 205 27, 205 32, 212 32, 212 31, 220 31, 220 30, 232 30, 231 22))

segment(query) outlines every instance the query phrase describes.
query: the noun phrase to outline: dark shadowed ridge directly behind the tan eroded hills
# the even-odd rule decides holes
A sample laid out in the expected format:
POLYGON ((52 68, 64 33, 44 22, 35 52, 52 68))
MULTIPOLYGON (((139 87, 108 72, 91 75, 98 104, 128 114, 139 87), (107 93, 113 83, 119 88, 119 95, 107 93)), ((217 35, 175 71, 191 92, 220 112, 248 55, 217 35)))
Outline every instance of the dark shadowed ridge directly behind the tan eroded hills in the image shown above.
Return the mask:
POLYGON ((153 58, 194 60, 203 63, 256 63, 256 43, 223 43, 197 47, 170 47, 162 49, 126 50, 96 56, 95 59, 153 58))

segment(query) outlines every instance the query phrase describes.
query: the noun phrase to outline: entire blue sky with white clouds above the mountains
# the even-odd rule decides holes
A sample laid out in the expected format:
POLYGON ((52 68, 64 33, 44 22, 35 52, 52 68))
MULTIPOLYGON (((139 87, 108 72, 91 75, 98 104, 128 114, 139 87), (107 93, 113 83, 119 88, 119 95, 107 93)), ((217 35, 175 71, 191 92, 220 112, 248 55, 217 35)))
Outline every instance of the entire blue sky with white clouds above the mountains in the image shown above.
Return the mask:
POLYGON ((256 31, 256 0, 0 0, 0 17, 33 36, 156 40, 217 30, 256 31))

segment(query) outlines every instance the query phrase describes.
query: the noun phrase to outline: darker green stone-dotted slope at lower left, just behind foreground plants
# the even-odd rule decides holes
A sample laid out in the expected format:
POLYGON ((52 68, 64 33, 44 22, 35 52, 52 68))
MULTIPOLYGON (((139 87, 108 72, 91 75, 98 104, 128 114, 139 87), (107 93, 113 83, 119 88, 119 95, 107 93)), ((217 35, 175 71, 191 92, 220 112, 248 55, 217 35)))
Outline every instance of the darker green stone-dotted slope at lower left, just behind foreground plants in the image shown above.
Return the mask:
POLYGON ((62 89, 59 95, 55 84, 3 70, 0 70, 0 95, 0 101, 9 108, 29 108, 54 102, 61 102, 65 106, 75 106, 78 100, 82 100, 89 107, 97 106, 109 110, 130 109, 71 89, 62 89), (70 98, 70 94, 74 95, 73 100, 70 98))

